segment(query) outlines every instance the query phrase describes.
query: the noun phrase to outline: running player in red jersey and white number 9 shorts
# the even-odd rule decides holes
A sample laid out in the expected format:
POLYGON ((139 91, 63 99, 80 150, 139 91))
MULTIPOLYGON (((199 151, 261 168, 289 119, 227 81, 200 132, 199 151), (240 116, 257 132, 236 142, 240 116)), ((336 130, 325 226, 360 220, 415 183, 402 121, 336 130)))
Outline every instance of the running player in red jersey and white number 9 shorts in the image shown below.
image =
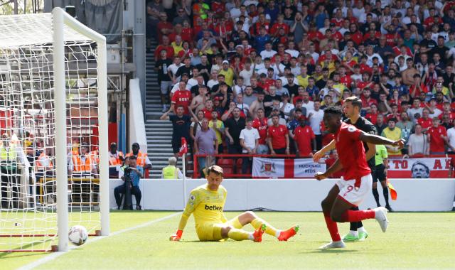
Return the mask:
POLYGON ((324 109, 324 125, 330 133, 335 135, 336 151, 339 156, 325 173, 318 172, 314 176, 317 180, 322 180, 342 168, 346 172, 343 179, 333 185, 327 197, 321 202, 328 232, 332 238, 332 242, 323 245, 321 249, 346 247, 338 234, 336 222, 359 222, 375 218, 379 222, 382 232, 387 230, 388 220, 385 207, 377 207, 373 210, 350 210, 351 207, 363 202, 373 185, 362 142, 400 147, 404 145, 402 139, 392 141, 360 131, 355 126, 341 121, 342 115, 343 112, 338 107, 324 109))

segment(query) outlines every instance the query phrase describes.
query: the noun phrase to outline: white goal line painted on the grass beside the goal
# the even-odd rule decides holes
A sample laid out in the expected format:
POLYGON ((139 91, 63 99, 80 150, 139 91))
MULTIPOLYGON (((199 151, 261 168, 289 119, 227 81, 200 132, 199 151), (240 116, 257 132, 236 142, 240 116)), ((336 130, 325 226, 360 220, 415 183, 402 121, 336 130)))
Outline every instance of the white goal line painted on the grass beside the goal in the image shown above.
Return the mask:
MULTIPOLYGON (((120 229, 119 231, 112 232, 112 234, 109 234, 107 236, 94 237, 92 239, 89 239, 84 244, 84 246, 86 246, 87 244, 90 244, 92 242, 97 242, 98 240, 105 239, 106 237, 112 237, 112 236, 115 236, 115 235, 118 235, 118 234, 122 234, 124 232, 132 231, 134 229, 140 229, 140 228, 143 228, 143 227, 147 227, 147 226, 153 225, 154 223, 158 223, 158 222, 161 222, 161 221, 164 221, 164 220, 168 220, 168 219, 170 219, 172 217, 175 217, 176 215, 180 215, 180 214, 181 214, 181 212, 176 212, 176 213, 173 213, 172 215, 167 215, 166 217, 161 217, 158 220, 151 220, 151 221, 145 222, 145 223, 143 223, 141 225, 137 225, 137 226, 134 226, 134 227, 129 227, 129 228, 126 228, 126 229, 120 229)), ((70 246, 69 249, 68 249, 68 252, 70 252, 73 249, 77 249, 77 248, 78 248, 77 246, 70 246)), ((52 261, 53 259, 57 259, 58 257, 60 257, 60 256, 62 256, 64 254, 67 254, 68 252, 53 252, 52 254, 50 254, 50 255, 42 258, 42 259, 38 259, 38 261, 33 261, 30 264, 27 264, 25 266, 22 266, 21 268, 18 268, 18 270, 34 269, 34 268, 36 268, 38 266, 41 266, 41 264, 45 264, 48 261, 52 261)))

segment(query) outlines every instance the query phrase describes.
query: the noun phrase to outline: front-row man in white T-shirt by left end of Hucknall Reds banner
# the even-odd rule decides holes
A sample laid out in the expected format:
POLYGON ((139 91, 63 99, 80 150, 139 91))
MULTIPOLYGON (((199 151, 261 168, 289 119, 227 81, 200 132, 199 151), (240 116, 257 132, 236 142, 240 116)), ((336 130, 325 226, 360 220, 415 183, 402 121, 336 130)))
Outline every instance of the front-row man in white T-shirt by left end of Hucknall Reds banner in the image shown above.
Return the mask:
MULTIPOLYGON (((248 117, 245 129, 240 131, 240 146, 242 153, 255 154, 259 145, 259 131, 252 127, 253 119, 248 117)), ((247 173, 252 166, 252 157, 242 158, 242 173, 247 173)))

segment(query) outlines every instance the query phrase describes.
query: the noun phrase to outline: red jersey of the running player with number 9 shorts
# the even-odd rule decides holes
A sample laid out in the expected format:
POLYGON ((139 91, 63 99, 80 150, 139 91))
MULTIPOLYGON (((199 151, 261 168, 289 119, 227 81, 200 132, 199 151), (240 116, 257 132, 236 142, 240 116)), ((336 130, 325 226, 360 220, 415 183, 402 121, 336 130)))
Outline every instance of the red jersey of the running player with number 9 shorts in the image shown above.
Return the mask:
POLYGON ((335 146, 343 168, 346 170, 344 180, 362 178, 371 173, 365 158, 363 142, 358 138, 362 131, 355 126, 341 123, 335 134, 335 146))

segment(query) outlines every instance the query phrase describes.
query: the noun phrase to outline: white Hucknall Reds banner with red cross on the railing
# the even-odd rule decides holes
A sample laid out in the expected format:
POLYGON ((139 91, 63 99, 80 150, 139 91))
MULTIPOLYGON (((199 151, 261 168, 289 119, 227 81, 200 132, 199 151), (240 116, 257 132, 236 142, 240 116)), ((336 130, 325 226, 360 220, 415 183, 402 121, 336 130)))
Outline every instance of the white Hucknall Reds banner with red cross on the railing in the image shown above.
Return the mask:
POLYGON ((314 178, 317 171, 326 171, 326 164, 311 158, 253 158, 252 177, 314 178))

